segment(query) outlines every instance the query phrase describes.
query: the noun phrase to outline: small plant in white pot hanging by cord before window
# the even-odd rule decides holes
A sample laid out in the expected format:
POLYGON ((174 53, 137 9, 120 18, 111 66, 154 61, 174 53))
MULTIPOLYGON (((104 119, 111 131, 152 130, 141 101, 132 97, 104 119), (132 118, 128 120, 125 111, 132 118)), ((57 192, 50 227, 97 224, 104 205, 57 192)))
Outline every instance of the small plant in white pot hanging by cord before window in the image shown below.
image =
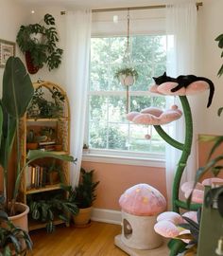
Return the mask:
POLYGON ((126 87, 127 90, 127 113, 129 113, 129 86, 133 85, 138 79, 138 72, 134 68, 131 60, 131 50, 129 46, 129 9, 127 15, 127 46, 122 60, 121 67, 116 70, 114 77, 121 82, 122 85, 126 87))

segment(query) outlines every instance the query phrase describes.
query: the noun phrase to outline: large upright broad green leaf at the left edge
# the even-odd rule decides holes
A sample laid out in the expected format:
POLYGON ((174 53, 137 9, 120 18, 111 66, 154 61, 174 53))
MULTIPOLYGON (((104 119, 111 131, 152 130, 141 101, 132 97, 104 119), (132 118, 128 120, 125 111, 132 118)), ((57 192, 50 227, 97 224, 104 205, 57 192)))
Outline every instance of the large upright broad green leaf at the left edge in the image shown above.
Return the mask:
POLYGON ((26 67, 17 57, 9 57, 3 75, 2 102, 12 117, 19 119, 26 113, 34 88, 26 67))

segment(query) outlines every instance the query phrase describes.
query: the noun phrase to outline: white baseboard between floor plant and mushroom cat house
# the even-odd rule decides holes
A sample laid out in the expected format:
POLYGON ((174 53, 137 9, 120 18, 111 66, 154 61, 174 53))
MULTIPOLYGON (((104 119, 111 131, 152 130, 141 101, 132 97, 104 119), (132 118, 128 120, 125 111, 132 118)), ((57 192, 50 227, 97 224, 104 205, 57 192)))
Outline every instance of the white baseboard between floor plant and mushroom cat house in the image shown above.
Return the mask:
POLYGON ((122 220, 122 214, 119 210, 94 208, 92 213, 92 220, 120 225, 122 220))

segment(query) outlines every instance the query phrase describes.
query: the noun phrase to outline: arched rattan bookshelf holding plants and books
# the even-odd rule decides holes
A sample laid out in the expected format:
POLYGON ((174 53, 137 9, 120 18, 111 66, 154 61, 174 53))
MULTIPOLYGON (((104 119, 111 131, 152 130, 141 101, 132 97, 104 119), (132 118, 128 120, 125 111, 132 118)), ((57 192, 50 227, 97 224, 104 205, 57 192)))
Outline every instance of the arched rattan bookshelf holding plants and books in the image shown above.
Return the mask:
MULTIPOLYGON (((65 91, 53 82, 34 82, 33 86, 37 92, 35 95, 43 98, 44 104, 42 100, 39 104, 34 95, 26 116, 20 120, 23 165, 26 164, 28 151, 32 149, 50 151, 58 155, 70 154, 70 109, 65 91)), ((20 199, 29 205, 30 198, 39 198, 40 195, 44 198, 54 192, 60 192, 60 183, 69 184, 68 162, 50 157, 36 160, 23 174, 20 199)), ((61 221, 55 223, 60 224, 61 221)), ((29 230, 41 229, 44 226, 44 223, 29 220, 29 230)))

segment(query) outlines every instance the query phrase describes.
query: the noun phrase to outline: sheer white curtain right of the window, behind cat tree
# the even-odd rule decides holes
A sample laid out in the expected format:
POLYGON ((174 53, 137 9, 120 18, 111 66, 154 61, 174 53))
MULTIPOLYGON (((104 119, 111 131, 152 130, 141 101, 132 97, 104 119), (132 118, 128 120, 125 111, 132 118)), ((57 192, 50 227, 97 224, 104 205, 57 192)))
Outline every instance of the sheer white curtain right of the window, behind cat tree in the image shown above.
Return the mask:
MULTIPOLYGON (((178 0, 166 6, 166 34, 167 34, 167 75, 195 74, 196 42, 197 42, 197 7, 195 0, 178 0)), ((171 101, 168 99, 167 103, 171 101)), ((179 99, 175 103, 180 106, 179 99)), ((180 142, 184 138, 184 120, 172 123, 168 128, 171 137, 180 142)), ((195 143, 190 160, 187 163, 185 180, 194 178, 196 171, 195 143)), ((166 146, 166 191, 168 208, 171 209, 172 186, 174 175, 181 152, 172 146, 166 146)))

